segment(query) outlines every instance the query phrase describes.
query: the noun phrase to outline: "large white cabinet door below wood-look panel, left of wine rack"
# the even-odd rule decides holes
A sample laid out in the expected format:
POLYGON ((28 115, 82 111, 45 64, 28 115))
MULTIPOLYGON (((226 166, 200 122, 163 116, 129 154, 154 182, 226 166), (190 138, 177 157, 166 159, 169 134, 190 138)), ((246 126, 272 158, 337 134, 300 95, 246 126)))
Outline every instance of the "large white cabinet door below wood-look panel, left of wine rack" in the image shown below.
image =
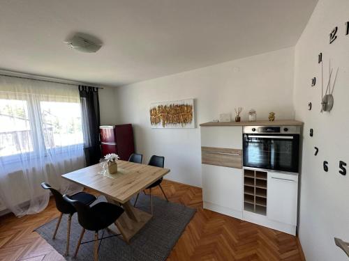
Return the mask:
POLYGON ((203 200, 242 211, 242 169, 202 164, 203 200))

